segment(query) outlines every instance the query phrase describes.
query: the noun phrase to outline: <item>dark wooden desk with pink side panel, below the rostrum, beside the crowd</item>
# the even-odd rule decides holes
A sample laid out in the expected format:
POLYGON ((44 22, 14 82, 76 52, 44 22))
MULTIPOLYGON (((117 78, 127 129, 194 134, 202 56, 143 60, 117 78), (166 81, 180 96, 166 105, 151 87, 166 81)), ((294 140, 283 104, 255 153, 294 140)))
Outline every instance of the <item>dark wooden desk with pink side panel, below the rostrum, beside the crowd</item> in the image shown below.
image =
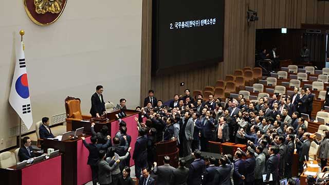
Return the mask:
MULTIPOLYGON (((89 165, 87 165, 89 151, 83 146, 81 137, 65 141, 44 139, 44 151, 52 148, 63 153, 61 158, 62 184, 84 184, 92 180, 92 171, 89 165)), ((90 135, 85 135, 84 137, 86 142, 90 143, 90 135)))

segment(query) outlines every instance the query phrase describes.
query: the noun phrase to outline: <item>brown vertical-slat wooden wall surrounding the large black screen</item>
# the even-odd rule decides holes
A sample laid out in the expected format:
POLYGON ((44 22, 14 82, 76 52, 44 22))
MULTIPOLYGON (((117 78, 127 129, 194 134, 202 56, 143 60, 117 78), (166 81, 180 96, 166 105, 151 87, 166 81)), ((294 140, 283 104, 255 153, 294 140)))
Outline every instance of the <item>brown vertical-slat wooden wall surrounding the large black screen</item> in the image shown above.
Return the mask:
MULTIPOLYGON (((329 24, 329 2, 317 0, 226 0, 224 62, 194 70, 151 78, 152 0, 142 4, 141 102, 153 89, 167 101, 184 90, 203 90, 236 69, 254 65, 255 29, 301 28, 301 24, 329 24), (247 23, 247 10, 258 12, 259 21, 247 23), (185 86, 180 86, 185 82, 185 86)), ((218 61, 219 62, 219 61, 218 61)))

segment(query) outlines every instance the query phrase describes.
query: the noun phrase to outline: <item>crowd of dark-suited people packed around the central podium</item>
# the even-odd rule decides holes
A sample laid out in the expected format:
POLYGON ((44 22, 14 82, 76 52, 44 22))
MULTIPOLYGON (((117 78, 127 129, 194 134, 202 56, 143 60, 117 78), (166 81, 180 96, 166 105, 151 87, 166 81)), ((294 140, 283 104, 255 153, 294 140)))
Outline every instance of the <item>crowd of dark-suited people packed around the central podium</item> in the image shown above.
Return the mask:
MULTIPOLYGON (((96 98, 102 101, 102 96, 96 98)), ((213 99, 213 95, 209 95, 208 101, 203 98, 203 95, 192 97, 186 89, 184 96, 174 95, 170 105, 164 106, 150 90, 144 107, 136 107, 140 110, 135 119, 136 143, 131 143, 126 123, 121 119, 119 131, 112 139, 106 126, 96 133, 93 123, 91 143, 82 138, 89 150, 93 184, 134 184, 130 177, 131 157, 140 185, 264 184, 264 174, 266 183, 278 184, 280 179, 292 176, 295 149, 299 171, 303 172, 303 163, 308 160, 310 133, 300 113, 310 115, 312 112, 313 97, 309 89, 302 88, 301 94, 295 89, 293 96, 274 94, 270 102, 269 97, 262 97, 258 104, 247 104, 243 95, 239 95, 237 99, 228 98, 225 107, 220 99, 213 99), (177 141, 180 158, 176 169, 170 165, 168 156, 163 159, 164 165, 157 167, 156 143, 163 140, 177 141), (222 155, 216 162, 213 156, 202 157, 202 152, 208 151, 208 141, 246 144, 247 150, 239 149, 234 156, 222 155), (130 154, 131 144, 135 146, 133 154, 130 154), (187 164, 186 156, 193 156, 191 164, 187 164)), ((121 104, 119 108, 124 106, 121 104)), ((53 137, 49 119, 42 121, 44 128, 40 128, 40 137, 53 137)), ((321 141, 314 140, 320 144, 321 169, 329 157, 329 131, 323 132, 321 141)), ((29 139, 24 140, 24 145, 27 150, 29 139)), ((294 183, 288 180, 288 184, 294 183)))

